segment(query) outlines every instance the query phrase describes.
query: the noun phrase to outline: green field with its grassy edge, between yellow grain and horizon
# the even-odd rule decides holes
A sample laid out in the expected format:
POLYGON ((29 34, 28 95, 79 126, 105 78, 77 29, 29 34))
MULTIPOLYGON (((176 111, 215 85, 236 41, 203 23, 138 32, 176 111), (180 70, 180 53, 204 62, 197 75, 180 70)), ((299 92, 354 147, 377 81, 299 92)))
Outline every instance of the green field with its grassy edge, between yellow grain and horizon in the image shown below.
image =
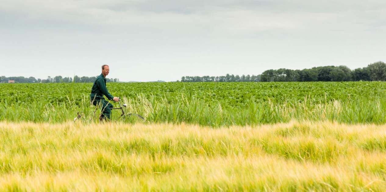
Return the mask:
MULTIPOLYGON (((91 114, 91 86, 1 84, 0 120, 56 123, 72 120, 78 111, 91 114)), ((150 123, 211 127, 293 119, 386 123, 384 82, 108 83, 108 89, 124 98, 130 112, 150 123)))

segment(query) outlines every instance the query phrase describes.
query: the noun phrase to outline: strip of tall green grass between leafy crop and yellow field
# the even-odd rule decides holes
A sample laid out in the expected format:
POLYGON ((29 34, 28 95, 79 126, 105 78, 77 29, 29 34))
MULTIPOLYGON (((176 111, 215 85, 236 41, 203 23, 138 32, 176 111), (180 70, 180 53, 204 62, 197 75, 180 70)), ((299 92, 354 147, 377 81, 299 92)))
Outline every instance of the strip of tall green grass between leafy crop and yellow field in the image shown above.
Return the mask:
MULTIPOLYGON (((148 123, 171 122, 198 124, 212 127, 232 125, 260 125, 278 122, 300 121, 332 121, 347 124, 384 124, 386 123, 386 95, 378 95, 371 99, 352 100, 311 100, 305 97, 294 102, 284 99, 280 103, 267 100, 258 102, 250 99, 244 107, 222 106, 219 102, 205 102, 196 99, 191 94, 181 93, 179 99, 173 102, 168 98, 146 98, 142 94, 123 98, 128 104, 127 112, 140 114, 148 123)), ((0 101, 0 120, 10 122, 50 122, 61 123, 73 120, 76 113, 84 112, 86 119, 97 119, 93 114, 95 106, 90 105, 88 95, 81 100, 69 97, 66 102, 47 102, 45 100, 30 100, 30 102, 0 101)), ((113 110, 112 117, 119 117, 119 111, 113 110)), ((128 122, 135 122, 129 118, 128 122)))

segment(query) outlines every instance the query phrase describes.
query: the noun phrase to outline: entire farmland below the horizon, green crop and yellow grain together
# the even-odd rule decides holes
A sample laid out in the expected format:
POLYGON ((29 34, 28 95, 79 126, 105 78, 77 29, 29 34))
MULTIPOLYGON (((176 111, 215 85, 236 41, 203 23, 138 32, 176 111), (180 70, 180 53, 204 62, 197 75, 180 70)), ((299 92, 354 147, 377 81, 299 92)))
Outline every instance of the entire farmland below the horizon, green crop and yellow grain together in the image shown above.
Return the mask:
POLYGON ((386 189, 385 82, 107 83, 145 122, 91 86, 0 84, 0 191, 386 189))

